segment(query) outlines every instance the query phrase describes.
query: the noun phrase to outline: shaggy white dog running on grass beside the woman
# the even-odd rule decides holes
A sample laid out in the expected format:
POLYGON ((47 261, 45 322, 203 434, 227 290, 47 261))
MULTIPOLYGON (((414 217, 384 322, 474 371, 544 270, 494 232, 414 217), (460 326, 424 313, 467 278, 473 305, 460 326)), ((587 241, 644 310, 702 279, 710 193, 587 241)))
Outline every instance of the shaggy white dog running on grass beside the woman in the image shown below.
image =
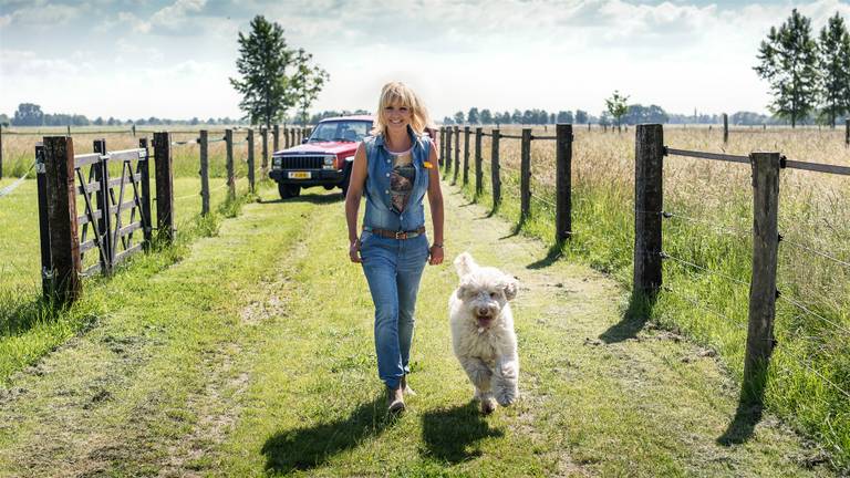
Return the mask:
POLYGON ((468 252, 455 259, 460 284, 448 299, 452 345, 475 385, 481 413, 514 403, 519 397, 519 357, 514 315, 508 301, 518 282, 490 267, 479 267, 468 252))

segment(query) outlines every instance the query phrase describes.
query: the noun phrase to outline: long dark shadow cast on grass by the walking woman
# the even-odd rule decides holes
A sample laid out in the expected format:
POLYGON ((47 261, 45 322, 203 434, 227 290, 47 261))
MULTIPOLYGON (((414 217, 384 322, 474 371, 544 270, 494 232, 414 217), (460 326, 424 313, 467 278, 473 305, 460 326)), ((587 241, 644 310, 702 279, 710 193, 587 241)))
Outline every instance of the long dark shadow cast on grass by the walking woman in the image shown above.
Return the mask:
POLYGON ((352 411, 348 418, 278 432, 262 446, 266 470, 289 474, 320 467, 334 455, 381 435, 395 419, 386 414, 385 399, 379 396, 352 411))

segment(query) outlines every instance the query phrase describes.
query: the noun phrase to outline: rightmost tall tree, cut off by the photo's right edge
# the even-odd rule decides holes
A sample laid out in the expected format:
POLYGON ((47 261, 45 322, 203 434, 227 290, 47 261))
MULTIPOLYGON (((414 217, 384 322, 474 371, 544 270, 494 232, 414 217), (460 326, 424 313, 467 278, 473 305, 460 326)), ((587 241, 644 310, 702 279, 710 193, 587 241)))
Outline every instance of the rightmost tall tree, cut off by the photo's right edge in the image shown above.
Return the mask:
POLYGON ((823 101, 821 117, 836 127, 836 117, 850 111, 850 33, 844 20, 836 12, 820 31, 818 56, 822 82, 820 97, 823 101))

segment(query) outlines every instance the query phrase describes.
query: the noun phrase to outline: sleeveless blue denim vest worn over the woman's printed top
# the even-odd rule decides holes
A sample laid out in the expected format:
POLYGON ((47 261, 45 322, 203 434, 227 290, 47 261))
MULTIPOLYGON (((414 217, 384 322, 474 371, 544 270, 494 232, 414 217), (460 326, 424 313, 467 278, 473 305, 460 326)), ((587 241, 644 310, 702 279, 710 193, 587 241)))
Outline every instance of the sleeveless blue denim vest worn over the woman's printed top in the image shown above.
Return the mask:
POLYGON ((428 190, 428 169, 424 163, 431 155, 431 138, 417 136, 410 126, 407 133, 413 145, 411 157, 416 179, 407 205, 401 214, 395 212, 391 205, 390 173, 393 170, 393 158, 384 146, 384 136, 377 135, 363 141, 366 147, 366 214, 363 217, 365 230, 412 231, 425 225, 422 199, 428 190))

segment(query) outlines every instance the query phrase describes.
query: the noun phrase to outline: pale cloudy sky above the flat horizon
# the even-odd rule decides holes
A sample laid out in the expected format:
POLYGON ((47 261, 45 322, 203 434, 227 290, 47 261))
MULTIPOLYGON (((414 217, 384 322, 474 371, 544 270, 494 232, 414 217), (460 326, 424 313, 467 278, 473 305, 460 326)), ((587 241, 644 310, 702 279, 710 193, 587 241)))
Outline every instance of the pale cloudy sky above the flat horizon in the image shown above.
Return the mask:
POLYGON ((238 33, 262 14, 330 82, 312 111, 374 111, 388 81, 435 119, 469 107, 584 110, 614 90, 668 113, 767 113, 753 71, 797 8, 816 32, 850 1, 0 0, 0 113, 240 117, 238 33))

